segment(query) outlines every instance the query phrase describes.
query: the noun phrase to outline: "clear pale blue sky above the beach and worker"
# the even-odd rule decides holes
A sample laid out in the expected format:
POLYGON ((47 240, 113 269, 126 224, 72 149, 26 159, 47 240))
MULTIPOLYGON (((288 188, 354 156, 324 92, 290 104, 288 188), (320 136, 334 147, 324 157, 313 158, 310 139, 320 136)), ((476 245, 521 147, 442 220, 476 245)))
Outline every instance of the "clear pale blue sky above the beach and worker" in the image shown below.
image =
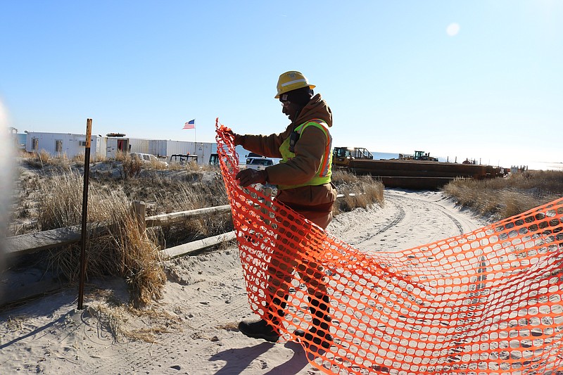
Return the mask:
POLYGON ((334 146, 563 162, 563 1, 19 1, 0 5, 0 111, 36 132, 214 141, 281 132, 300 70, 334 146), (196 119, 196 130, 182 130, 196 119))

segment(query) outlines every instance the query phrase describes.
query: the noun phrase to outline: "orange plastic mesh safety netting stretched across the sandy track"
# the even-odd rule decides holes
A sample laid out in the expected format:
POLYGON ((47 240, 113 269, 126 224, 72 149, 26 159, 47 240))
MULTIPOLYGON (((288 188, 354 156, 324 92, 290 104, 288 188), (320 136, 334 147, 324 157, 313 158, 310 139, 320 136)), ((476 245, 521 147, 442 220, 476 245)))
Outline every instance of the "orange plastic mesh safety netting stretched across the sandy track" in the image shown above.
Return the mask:
POLYGON ((563 198, 367 255, 270 194, 241 188, 226 130, 217 121, 251 309, 279 324, 281 340, 301 342, 312 365, 334 374, 563 374, 563 198), (318 345, 324 330, 327 348, 318 345))

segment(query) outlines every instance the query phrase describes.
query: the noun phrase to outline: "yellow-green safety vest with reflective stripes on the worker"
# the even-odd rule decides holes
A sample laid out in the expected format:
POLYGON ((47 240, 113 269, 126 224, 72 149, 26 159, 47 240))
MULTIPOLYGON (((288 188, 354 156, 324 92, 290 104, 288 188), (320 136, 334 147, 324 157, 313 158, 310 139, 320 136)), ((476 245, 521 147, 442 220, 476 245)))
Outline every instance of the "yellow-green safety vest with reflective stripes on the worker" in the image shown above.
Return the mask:
MULTIPOLYGON (((277 187, 280 190, 294 189, 294 188, 301 187, 301 186, 314 186, 314 185, 328 184, 331 180, 331 174, 332 174, 332 153, 331 153, 332 137, 330 136, 330 133, 329 133, 327 127, 326 127, 326 122, 319 120, 319 119, 313 119, 313 120, 310 120, 308 122, 303 122, 303 124, 296 127, 295 131, 301 136, 301 133, 303 133, 303 131, 309 126, 314 126, 314 127, 321 129, 322 132, 324 132, 324 135, 327 136, 327 146, 325 146, 325 148, 324 148, 324 153, 322 155, 321 164, 319 166, 319 169, 317 170, 317 173, 315 173, 315 176, 312 177, 312 179, 310 179, 308 182, 305 182, 305 184, 278 185, 277 187)), ((279 146, 279 152, 281 153, 281 160, 280 160, 279 163, 286 163, 291 158, 295 158, 295 153, 292 153, 291 151, 289 151, 289 139, 290 138, 291 137, 288 136, 284 140, 284 142, 281 144, 281 146, 279 146)))

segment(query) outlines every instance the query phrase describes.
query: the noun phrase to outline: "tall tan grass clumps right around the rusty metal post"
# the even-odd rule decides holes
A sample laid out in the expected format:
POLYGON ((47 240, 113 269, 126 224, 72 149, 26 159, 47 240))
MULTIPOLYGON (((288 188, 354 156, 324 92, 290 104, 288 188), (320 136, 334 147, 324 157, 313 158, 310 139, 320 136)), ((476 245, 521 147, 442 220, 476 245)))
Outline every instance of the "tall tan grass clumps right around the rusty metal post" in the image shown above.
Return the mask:
MULTIPOLYGON (((37 220, 42 230, 80 224, 83 184, 78 172, 63 172, 40 180, 37 220)), ((125 193, 91 184, 88 219, 89 222, 106 225, 103 230, 94 231, 87 240, 87 277, 123 277, 136 307, 160 298, 165 274, 160 265, 156 235, 152 231, 139 231, 125 193)), ((77 280, 80 244, 49 250, 42 256, 45 257, 47 269, 69 282, 77 280)))

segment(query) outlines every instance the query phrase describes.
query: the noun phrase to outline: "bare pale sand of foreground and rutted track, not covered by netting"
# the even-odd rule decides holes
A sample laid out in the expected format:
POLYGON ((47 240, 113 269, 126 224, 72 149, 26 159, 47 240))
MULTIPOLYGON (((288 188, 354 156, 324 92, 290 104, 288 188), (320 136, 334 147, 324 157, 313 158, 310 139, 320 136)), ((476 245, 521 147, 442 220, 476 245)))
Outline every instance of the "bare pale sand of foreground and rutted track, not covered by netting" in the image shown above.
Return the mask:
MULTIPOLYGON (((404 250, 485 224, 440 192, 387 189, 384 207, 339 215, 327 230, 372 252, 404 250)), ((298 343, 268 343, 236 329, 241 319, 255 317, 236 247, 170 260, 167 270, 153 314, 108 310, 107 301, 127 300, 118 279, 90 281, 84 310, 77 310, 76 287, 2 310, 0 374, 322 374, 298 343)))

